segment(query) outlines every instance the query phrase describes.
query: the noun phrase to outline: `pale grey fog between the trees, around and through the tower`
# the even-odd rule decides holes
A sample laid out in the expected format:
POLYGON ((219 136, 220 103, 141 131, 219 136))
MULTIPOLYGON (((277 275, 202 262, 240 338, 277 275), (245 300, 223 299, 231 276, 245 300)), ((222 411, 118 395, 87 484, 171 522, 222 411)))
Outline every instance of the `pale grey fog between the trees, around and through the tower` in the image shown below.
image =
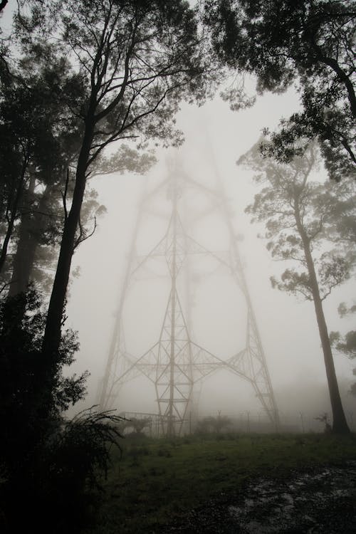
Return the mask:
MULTIPOLYGON (((215 188, 216 178, 221 180, 282 419, 298 421, 300 412, 310 421, 321 412, 330 414, 313 304, 271 288, 269 277, 278 275, 286 266, 271 259, 257 236, 262 227, 251 224, 244 213, 258 189, 252 183, 251 172, 236 166, 236 160, 258 140, 263 127, 273 129, 281 116, 287 117, 297 108, 298 100, 292 91, 260 97, 253 108, 238 113, 229 110, 229 105, 219 98, 201 108, 182 105, 177 116, 177 127, 185 137, 182 147, 158 148, 157 164, 146 176, 112 174, 92 180, 91 185, 98 190, 99 201, 108 212, 98 221, 95 235, 75 252, 73 270, 79 266, 80 276, 73 278, 70 285, 67 321, 80 337, 80 352, 70 371, 90 371, 85 406, 98 402, 98 382, 105 372, 142 197, 147 199, 155 186, 169 177, 172 166, 178 165, 179 172, 205 187, 215 188)), ((319 176, 326 179, 323 169, 319 176)), ((187 187, 179 200, 179 213, 199 244, 210 251, 226 251, 229 234, 224 220, 211 209, 208 197, 203 190, 187 187), (202 216, 204 211, 206 216, 202 216)), ((137 234, 139 255, 149 253, 162 239, 171 210, 167 188, 147 201, 137 234)), ((244 345, 244 295, 229 273, 211 258, 189 262, 191 301, 188 305, 187 295, 182 295, 182 307, 185 306, 186 315, 191 313, 192 338, 224 360, 244 345)), ((183 271, 181 275, 183 279, 183 271)), ((186 286, 182 281, 179 284, 179 291, 184 293, 186 286)), ((158 340, 169 288, 169 271, 158 259, 147 262, 146 268, 137 271, 132 279, 123 320, 127 350, 134 359, 158 340)), ((354 294, 355 282, 350 281, 325 301, 329 330, 352 328, 351 319, 340 320, 337 306, 343 300, 350 302, 354 294)), ((353 378, 352 362, 335 353, 335 367, 345 412, 353 426, 356 399, 347 394, 353 378)), ((196 384, 195 397, 199 398, 201 415, 221 411, 241 417, 251 412, 251 417, 259 417, 263 412, 251 384, 228 370, 214 372, 196 384)), ((153 384, 142 376, 127 382, 116 408, 119 412, 157 412, 153 384)))

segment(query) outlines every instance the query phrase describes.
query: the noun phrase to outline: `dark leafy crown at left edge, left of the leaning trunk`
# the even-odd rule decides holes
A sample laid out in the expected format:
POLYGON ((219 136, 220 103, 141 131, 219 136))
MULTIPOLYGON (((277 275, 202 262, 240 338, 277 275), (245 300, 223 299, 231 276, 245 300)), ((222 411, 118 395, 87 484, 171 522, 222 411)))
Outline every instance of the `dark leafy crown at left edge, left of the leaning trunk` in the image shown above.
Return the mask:
POLYGON ((35 196, 46 199, 58 183, 64 187, 81 127, 67 106, 83 98, 83 87, 66 58, 51 46, 38 46, 36 54, 17 63, 7 63, 1 77, 0 272, 19 221, 24 229, 30 217, 40 216, 35 196))

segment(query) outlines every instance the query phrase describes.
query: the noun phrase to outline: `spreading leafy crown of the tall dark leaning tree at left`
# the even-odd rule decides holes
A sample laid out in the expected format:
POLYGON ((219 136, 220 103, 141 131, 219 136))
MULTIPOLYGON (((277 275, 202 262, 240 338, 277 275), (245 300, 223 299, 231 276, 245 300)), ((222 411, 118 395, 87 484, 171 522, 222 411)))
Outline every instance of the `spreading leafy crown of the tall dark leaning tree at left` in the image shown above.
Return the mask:
POLYGON ((88 100, 72 110, 94 121, 90 163, 115 140, 181 142, 174 127, 179 100, 203 100, 209 70, 187 3, 100 0, 93 9, 85 1, 44 2, 41 16, 36 2, 27 4, 27 16, 23 10, 16 17, 26 49, 59 24, 61 46, 88 88, 88 100))

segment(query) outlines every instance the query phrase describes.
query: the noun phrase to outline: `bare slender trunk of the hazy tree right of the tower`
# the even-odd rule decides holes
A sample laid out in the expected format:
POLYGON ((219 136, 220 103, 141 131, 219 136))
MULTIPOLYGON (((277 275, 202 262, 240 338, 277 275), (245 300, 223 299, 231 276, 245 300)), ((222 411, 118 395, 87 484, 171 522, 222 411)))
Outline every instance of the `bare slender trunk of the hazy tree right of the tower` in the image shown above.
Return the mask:
POLYGON ((330 346, 328 327, 326 325, 325 315, 324 315, 324 310, 323 310, 323 302, 320 298, 318 278, 315 273, 313 256, 310 251, 310 240, 307 234, 305 233, 305 229, 303 227, 303 223, 300 218, 298 199, 295 201, 295 221, 297 223, 298 231, 303 242, 305 261, 307 263, 308 274, 309 274, 310 289, 313 294, 315 315, 316 315, 316 320, 318 322, 320 341, 323 347, 326 377, 328 379, 331 409, 333 411, 333 432, 338 433, 338 434, 349 434, 350 429, 347 426, 345 412, 344 412, 344 409, 342 408, 339 387, 337 385, 335 365, 334 365, 334 360, 333 360, 333 352, 330 346))

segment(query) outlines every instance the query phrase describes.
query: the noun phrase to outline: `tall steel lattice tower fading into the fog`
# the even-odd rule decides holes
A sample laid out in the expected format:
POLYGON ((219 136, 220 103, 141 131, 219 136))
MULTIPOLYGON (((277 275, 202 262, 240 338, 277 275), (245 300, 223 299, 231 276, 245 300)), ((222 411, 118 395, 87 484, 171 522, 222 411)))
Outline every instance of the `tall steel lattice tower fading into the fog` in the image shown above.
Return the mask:
POLYGON ((145 194, 141 201, 127 261, 125 281, 120 293, 105 376, 100 384, 99 404, 103 409, 117 408, 120 386, 137 375, 145 375, 155 385, 161 431, 168 436, 180 434, 184 422, 187 422, 187 412, 192 408, 194 384, 221 369, 230 370, 251 383, 266 414, 278 427, 278 409, 222 184, 219 182, 216 190, 209 189, 176 168, 171 170, 169 177, 150 194, 145 194), (199 194, 211 199, 213 209, 216 209, 224 219, 229 233, 229 251, 225 253, 209 251, 192 239, 184 229, 179 213, 179 199, 186 186, 195 188, 199 194), (172 203, 167 229, 150 253, 137 256, 137 234, 145 214, 145 207, 152 197, 164 189, 169 192, 172 203), (216 263, 226 268, 244 295, 247 310, 245 346, 227 360, 222 360, 192 339, 190 321, 187 324, 186 320, 189 310, 187 314, 184 313, 177 287, 182 266, 192 256, 214 258, 216 263), (170 278, 167 306, 157 342, 143 355, 135 357, 127 351, 125 345, 122 320, 125 299, 134 276, 147 261, 159 257, 165 259, 170 278))

